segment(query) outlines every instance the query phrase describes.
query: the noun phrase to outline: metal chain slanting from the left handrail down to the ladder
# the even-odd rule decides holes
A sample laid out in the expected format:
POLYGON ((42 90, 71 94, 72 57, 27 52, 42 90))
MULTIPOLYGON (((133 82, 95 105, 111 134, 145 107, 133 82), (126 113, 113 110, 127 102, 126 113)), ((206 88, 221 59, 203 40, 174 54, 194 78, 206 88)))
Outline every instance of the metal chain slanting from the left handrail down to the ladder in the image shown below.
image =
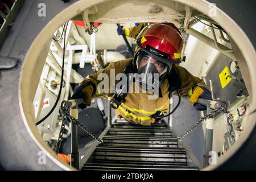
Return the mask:
POLYGON ((83 129, 86 133, 88 133, 92 138, 96 139, 98 141, 98 143, 103 144, 103 140, 101 140, 100 138, 98 138, 96 135, 94 135, 92 133, 92 131, 90 131, 89 129, 87 129, 84 125, 82 125, 77 119, 73 118, 69 112, 68 112, 68 106, 65 104, 65 102, 63 102, 63 104, 61 104, 60 107, 61 113, 63 113, 65 115, 65 117, 69 118, 71 122, 76 123, 77 126, 80 126, 81 129, 83 129))

